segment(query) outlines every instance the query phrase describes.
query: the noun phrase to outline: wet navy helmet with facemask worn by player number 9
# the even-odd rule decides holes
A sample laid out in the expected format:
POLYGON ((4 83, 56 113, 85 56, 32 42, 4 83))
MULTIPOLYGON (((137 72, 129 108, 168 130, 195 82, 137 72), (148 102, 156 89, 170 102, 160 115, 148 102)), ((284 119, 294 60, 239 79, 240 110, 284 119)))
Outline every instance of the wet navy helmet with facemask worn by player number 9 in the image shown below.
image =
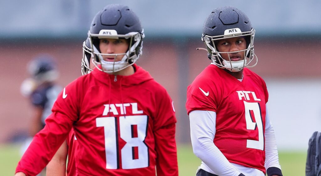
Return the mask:
MULTIPOLYGON (((254 34, 251 22, 247 15, 239 9, 232 6, 222 6, 214 9, 206 18, 203 26, 202 41, 206 45, 208 57, 214 64, 230 71, 240 71, 257 57, 254 54, 254 34), (244 60, 231 61, 224 60, 221 53, 217 50, 216 43, 222 38, 244 37, 247 42, 247 48, 244 52, 244 60)), ((236 51, 241 52, 241 51, 236 51)), ((235 52, 230 52, 235 53, 235 52)), ((254 67, 252 64, 249 67, 254 67)))

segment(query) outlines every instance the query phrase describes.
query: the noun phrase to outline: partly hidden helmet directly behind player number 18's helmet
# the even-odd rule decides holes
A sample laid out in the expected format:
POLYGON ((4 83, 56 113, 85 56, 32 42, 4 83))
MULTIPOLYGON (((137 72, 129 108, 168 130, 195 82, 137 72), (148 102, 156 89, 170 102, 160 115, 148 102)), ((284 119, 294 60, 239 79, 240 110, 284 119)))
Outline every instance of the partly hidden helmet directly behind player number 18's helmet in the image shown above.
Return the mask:
POLYGON ((90 44, 90 38, 82 43, 82 61, 81 61, 81 73, 82 75, 86 75, 92 71, 90 68, 90 62, 92 58, 92 50, 90 44))

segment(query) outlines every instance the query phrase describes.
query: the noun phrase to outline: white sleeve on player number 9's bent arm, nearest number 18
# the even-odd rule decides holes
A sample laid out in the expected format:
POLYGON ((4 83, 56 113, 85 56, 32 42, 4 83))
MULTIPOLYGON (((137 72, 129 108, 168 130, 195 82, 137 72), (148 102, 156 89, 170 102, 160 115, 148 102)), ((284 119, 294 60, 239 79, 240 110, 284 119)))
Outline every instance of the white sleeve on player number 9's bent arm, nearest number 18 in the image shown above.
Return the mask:
POLYGON ((226 159, 213 142, 216 113, 195 110, 189 113, 189 121, 194 154, 217 175, 238 176, 241 172, 226 159))

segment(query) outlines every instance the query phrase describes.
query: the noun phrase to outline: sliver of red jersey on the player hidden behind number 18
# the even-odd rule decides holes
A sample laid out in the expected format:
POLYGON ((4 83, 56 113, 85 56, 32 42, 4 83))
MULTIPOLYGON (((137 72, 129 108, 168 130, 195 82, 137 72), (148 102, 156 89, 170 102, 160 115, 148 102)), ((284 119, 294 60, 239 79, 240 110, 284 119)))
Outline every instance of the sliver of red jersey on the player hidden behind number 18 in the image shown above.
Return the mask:
POLYGON ((76 175, 76 164, 75 164, 75 150, 78 147, 78 141, 75 136, 74 130, 72 129, 69 132, 67 137, 67 145, 68 145, 68 164, 67 164, 67 175, 76 175))

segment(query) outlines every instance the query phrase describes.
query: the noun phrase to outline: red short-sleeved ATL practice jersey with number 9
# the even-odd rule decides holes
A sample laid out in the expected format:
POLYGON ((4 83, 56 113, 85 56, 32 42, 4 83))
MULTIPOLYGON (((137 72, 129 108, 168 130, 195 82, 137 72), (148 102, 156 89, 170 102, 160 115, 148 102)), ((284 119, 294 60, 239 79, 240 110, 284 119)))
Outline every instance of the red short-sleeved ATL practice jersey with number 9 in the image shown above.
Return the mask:
POLYGON ((264 80, 244 68, 243 80, 216 65, 209 65, 187 88, 186 109, 216 112, 214 144, 230 163, 265 173, 264 80))

